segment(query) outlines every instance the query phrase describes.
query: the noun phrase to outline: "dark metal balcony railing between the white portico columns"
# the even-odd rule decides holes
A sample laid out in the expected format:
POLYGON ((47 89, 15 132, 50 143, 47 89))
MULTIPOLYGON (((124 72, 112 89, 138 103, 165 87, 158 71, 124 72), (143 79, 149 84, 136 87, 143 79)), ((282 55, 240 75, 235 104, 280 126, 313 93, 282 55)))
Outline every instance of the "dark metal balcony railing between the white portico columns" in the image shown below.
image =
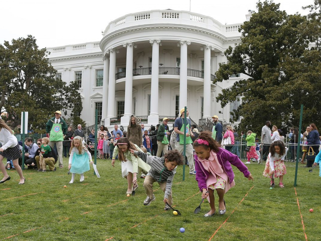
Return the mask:
MULTIPOLYGON (((150 75, 151 74, 151 67, 148 68, 139 68, 132 70, 132 76, 138 75, 150 75)), ((180 75, 180 68, 175 67, 159 67, 158 74, 169 74, 169 75, 180 75)), ((187 76, 197 77, 197 78, 204 78, 204 71, 196 70, 196 69, 187 69, 187 76)), ((116 80, 125 78, 126 71, 121 71, 116 73, 116 80)), ((215 75, 211 74, 211 81, 215 80, 215 75)))

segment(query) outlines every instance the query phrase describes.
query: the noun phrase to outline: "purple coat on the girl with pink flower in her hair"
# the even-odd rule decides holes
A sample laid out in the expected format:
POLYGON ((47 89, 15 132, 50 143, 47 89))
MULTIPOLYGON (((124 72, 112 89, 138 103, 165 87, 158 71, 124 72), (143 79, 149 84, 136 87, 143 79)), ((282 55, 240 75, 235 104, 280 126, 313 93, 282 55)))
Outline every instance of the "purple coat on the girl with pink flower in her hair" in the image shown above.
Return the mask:
MULTIPOLYGON (((248 171, 247 167, 244 165, 244 163, 238 158, 238 156, 230 153, 229 151, 223 148, 219 148, 219 152, 217 152, 216 155, 219 163, 221 164, 224 171, 226 172, 230 180, 230 183, 232 183, 234 180, 234 172, 231 167, 231 164, 237 167, 237 169, 239 169, 240 172, 243 172, 245 177, 248 177, 251 174, 248 171)), ((196 170, 196 180, 199 184, 200 191, 202 191, 203 188, 207 189, 206 180, 210 173, 204 169, 202 163, 199 161, 197 156, 195 156, 195 170, 196 170)))

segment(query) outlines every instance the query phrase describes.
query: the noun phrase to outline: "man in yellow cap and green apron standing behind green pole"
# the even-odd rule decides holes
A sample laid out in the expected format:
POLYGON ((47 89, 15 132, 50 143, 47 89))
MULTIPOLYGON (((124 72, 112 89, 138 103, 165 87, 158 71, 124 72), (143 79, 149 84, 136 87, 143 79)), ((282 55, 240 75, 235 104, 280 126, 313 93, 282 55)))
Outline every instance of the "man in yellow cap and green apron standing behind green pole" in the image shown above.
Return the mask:
MULTIPOLYGON (((183 153, 184 149, 184 118, 189 116, 189 111, 185 108, 180 110, 180 117, 178 117, 174 122, 174 131, 178 134, 176 135, 176 144, 175 148, 179 151, 179 153, 183 153)), ((187 161, 190 166, 190 174, 195 175, 195 167, 194 167, 194 156, 193 156, 193 141, 192 138, 194 134, 191 129, 191 120, 186 118, 186 152, 185 155, 187 157, 187 161)))

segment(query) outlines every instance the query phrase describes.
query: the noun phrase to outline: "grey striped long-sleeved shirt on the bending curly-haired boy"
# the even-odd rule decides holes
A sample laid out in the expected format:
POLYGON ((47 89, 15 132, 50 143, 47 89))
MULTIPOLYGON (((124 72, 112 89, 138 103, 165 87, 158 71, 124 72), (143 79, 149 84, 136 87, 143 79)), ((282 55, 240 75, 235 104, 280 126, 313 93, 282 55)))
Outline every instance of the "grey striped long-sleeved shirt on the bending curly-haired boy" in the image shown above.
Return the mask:
POLYGON ((176 168, 173 171, 169 171, 164 165, 165 158, 148 156, 146 153, 138 151, 134 151, 134 155, 140 157, 141 160, 150 166, 150 170, 147 175, 152 176, 157 182, 166 182, 164 198, 169 198, 176 168))

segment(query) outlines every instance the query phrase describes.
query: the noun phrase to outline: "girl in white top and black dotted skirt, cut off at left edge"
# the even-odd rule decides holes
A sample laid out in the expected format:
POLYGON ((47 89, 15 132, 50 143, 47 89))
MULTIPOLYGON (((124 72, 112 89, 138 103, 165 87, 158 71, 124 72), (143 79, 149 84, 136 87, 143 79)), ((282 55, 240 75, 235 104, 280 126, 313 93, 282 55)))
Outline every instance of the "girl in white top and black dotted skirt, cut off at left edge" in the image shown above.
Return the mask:
POLYGON ((2 145, 2 147, 0 147, 0 169, 1 172, 4 174, 4 178, 0 181, 0 183, 4 183, 11 179, 3 163, 4 158, 7 158, 9 160, 13 160, 13 164, 20 177, 19 184, 25 184, 26 179, 22 173, 22 169, 19 166, 18 161, 18 159, 21 157, 18 140, 12 134, 12 130, 4 122, 3 119, 0 119, 0 143, 2 145))

